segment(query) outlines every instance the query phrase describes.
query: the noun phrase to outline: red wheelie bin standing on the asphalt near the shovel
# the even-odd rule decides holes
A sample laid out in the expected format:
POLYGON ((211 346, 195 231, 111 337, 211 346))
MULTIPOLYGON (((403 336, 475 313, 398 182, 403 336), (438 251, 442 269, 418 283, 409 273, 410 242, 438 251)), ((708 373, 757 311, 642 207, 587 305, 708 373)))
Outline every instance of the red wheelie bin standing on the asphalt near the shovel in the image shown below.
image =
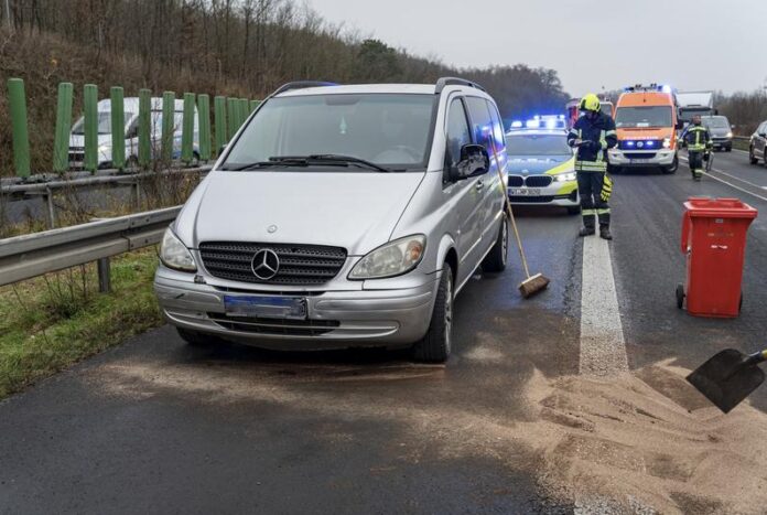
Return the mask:
POLYGON ((679 309, 687 300, 688 313, 695 316, 741 313, 746 234, 756 215, 737 199, 693 197, 684 203, 681 247, 687 283, 677 286, 679 309))

